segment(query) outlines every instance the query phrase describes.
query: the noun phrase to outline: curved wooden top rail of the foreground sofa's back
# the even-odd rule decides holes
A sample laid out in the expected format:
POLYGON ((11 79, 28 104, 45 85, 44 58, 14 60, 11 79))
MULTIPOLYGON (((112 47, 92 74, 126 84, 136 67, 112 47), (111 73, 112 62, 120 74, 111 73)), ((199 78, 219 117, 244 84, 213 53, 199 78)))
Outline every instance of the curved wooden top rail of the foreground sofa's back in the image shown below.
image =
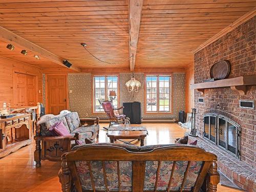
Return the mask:
POLYGON ((121 147, 91 146, 66 155, 66 160, 113 161, 214 161, 217 156, 194 146, 163 146, 150 152, 130 152, 121 147), (90 155, 88 155, 90 154, 90 155), (99 155, 100 154, 100 155, 99 155))

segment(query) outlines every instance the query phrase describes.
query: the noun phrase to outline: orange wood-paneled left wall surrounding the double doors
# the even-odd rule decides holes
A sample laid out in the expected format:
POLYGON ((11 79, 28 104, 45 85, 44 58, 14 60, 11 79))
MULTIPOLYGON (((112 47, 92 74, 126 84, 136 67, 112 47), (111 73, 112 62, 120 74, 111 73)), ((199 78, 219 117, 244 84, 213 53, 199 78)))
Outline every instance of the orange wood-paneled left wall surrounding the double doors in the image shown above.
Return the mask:
POLYGON ((0 57, 0 106, 2 106, 3 102, 10 102, 11 105, 14 105, 13 74, 15 72, 37 77, 36 100, 37 102, 42 102, 42 70, 40 68, 27 65, 26 63, 0 57))

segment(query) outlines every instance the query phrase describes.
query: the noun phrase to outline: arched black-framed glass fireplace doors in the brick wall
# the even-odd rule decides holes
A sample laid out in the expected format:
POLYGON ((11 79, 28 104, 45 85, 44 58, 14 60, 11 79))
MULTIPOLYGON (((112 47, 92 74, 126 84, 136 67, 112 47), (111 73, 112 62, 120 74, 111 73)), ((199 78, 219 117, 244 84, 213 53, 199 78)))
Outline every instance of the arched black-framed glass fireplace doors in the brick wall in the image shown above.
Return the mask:
POLYGON ((240 158, 241 126, 219 114, 204 116, 204 137, 240 158))

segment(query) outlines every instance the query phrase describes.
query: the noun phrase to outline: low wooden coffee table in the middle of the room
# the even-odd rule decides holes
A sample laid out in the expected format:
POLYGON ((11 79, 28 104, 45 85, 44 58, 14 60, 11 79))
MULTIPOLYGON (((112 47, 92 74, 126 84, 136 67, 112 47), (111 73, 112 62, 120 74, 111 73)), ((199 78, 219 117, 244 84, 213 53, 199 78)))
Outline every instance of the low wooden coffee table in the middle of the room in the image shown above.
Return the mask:
POLYGON ((111 126, 106 133, 110 138, 110 142, 119 140, 126 144, 133 144, 135 140, 140 141, 140 146, 144 146, 144 139, 147 136, 147 130, 144 126, 129 126, 124 127, 120 125, 111 126), (124 141, 123 139, 132 139, 131 141, 124 141))

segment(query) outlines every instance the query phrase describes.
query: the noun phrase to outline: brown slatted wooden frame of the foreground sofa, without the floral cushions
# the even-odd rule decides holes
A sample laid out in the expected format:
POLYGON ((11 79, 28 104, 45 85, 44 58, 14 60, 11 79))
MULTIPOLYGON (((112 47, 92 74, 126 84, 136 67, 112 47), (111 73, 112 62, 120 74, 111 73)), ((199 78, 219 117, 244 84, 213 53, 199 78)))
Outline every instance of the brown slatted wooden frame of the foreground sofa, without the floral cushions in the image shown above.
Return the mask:
MULTIPOLYGON (((76 187, 77 192, 82 192, 81 183, 76 172, 75 161, 132 161, 132 191, 142 192, 144 185, 145 174, 145 162, 146 161, 188 161, 186 171, 184 173, 183 182, 181 185, 182 191, 184 181, 186 180, 188 167, 190 161, 203 161, 203 165, 199 172, 193 191, 217 191, 217 185, 220 181, 220 176, 217 170, 217 156, 211 153, 207 153, 201 148, 193 146, 164 146, 155 148, 150 152, 129 152, 125 148, 117 146, 87 146, 84 148, 78 148, 75 151, 65 153, 62 155, 61 169, 59 170, 59 181, 63 192, 72 191, 73 187, 76 187), (89 154, 89 155, 88 155, 89 154)), ((90 168, 90 166, 89 166, 90 168)), ((159 174, 159 167, 157 168, 157 174, 159 174)), ((106 183, 105 167, 103 166, 104 181, 106 183)), ((170 175, 170 180, 172 179, 170 175)), ((118 174, 118 183, 120 183, 120 172, 118 174)), ((156 183, 158 181, 158 175, 156 176, 156 183)), ((93 191, 95 190, 94 180, 91 175, 91 182, 93 191)), ((170 189, 170 181, 167 191, 170 189)), ((106 190, 108 191, 108 190, 106 190)), ((155 191, 157 191, 155 189, 155 191)), ((119 184, 119 192, 120 184, 119 184)))

